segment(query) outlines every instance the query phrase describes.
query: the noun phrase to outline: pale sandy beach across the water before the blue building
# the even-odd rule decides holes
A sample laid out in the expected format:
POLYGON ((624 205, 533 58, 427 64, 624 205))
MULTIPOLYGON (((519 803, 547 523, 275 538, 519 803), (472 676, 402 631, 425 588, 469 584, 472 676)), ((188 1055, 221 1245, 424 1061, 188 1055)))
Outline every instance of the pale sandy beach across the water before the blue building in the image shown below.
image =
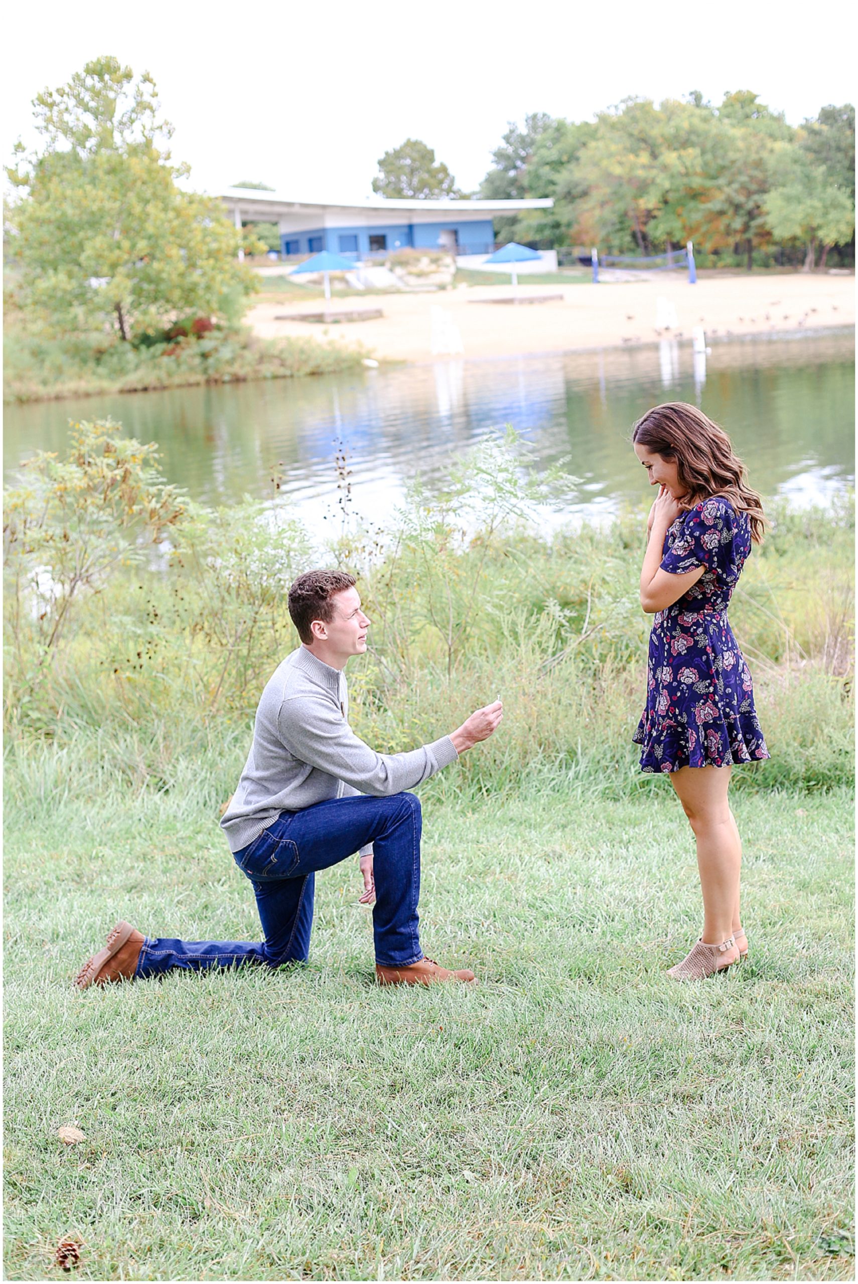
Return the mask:
POLYGON ((328 343, 363 344, 381 361, 433 361, 456 353, 465 358, 538 352, 575 352, 650 344, 660 338, 691 340, 701 326, 706 340, 817 330, 854 325, 853 276, 791 273, 772 276, 687 277, 600 285, 528 285, 524 295, 560 294, 545 303, 511 306, 491 302, 511 288, 465 285, 426 294, 385 294, 334 299, 331 307, 381 308, 384 316, 338 325, 277 321, 283 312, 319 312, 319 300, 258 303, 245 321, 265 338, 313 335, 328 343), (667 300, 676 326, 658 325, 667 300), (460 347, 459 347, 460 345, 460 347))

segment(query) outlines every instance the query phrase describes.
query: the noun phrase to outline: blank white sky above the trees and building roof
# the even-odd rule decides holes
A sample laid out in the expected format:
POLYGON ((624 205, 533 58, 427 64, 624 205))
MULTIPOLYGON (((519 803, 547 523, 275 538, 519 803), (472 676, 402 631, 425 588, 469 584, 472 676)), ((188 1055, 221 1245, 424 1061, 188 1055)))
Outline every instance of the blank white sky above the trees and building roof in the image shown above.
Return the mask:
POLYGON ((568 0, 15 4, 4 23, 3 159, 17 137, 36 141, 30 104, 41 89, 114 54, 154 76, 194 187, 253 178, 297 199, 351 199, 370 191, 383 152, 411 136, 473 190, 507 121, 525 112, 588 119, 629 95, 700 89, 719 101, 750 89, 799 123, 854 101, 839 8, 832 39, 832 5, 805 30, 789 6, 748 0, 669 17, 640 0, 593 6, 595 17, 568 0))

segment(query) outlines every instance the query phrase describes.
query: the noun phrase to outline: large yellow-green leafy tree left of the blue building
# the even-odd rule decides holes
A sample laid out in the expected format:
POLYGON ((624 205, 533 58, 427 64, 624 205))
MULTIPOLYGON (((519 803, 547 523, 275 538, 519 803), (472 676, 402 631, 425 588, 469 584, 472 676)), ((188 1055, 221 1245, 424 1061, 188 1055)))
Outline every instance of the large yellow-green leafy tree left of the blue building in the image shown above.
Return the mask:
POLYGON ((110 327, 121 339, 176 316, 238 316, 252 277, 218 202, 176 185, 155 85, 116 58, 87 63, 35 101, 41 154, 6 173, 24 307, 49 329, 110 327))

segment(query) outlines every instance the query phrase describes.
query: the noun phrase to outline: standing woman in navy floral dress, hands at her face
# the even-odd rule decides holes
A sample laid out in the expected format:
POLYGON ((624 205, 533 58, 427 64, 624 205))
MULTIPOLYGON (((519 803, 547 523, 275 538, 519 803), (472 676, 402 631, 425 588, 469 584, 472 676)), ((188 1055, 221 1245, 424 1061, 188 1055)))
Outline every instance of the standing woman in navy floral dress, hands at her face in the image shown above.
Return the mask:
POLYGON ((655 614, 646 710, 633 740, 642 746, 641 770, 669 774, 697 842, 703 935, 668 972, 690 981, 748 954, 739 915, 742 846, 727 791, 733 763, 769 755, 727 603, 751 543, 763 538, 764 517, 730 438, 694 406, 655 406, 632 442, 659 488, 641 570, 641 606, 655 614))

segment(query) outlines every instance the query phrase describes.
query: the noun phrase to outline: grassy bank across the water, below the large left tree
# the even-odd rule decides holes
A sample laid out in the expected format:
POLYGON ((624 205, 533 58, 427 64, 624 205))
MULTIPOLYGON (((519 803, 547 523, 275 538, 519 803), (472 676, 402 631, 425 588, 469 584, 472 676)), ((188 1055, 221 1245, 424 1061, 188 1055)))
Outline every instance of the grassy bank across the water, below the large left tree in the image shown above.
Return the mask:
POLYGON ((4 401, 322 375, 355 369, 363 356, 360 345, 259 339, 249 330, 135 347, 104 335, 48 338, 10 321, 4 335, 4 401))

